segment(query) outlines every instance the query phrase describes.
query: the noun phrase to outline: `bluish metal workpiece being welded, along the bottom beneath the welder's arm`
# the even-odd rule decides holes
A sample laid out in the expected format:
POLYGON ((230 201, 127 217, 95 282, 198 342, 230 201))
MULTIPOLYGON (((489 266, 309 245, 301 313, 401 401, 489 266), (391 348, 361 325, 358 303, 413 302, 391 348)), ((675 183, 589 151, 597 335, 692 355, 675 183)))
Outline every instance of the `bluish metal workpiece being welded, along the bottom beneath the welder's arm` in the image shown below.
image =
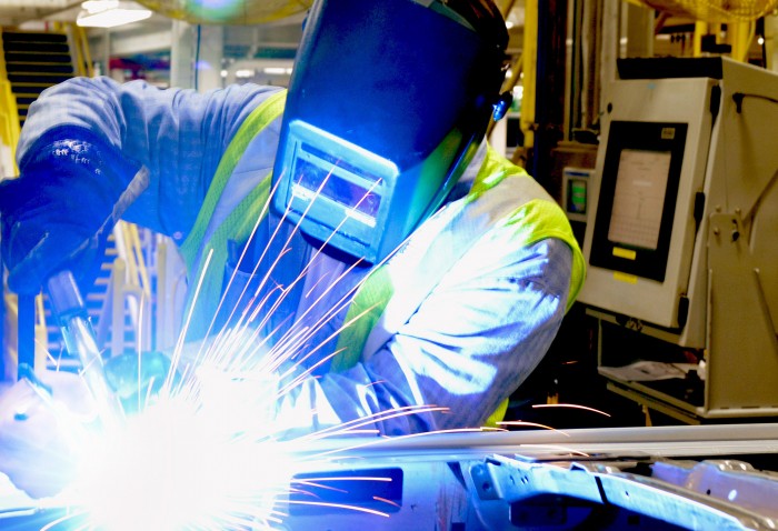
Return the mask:
MULTIPOLYGON (((778 424, 316 441, 299 451, 316 480, 290 485, 288 517, 258 529, 778 529, 778 477, 749 464, 778 465, 777 444, 778 424), (340 507, 295 504, 332 495, 340 507)), ((0 507, 0 528, 38 530, 63 510, 0 507)))

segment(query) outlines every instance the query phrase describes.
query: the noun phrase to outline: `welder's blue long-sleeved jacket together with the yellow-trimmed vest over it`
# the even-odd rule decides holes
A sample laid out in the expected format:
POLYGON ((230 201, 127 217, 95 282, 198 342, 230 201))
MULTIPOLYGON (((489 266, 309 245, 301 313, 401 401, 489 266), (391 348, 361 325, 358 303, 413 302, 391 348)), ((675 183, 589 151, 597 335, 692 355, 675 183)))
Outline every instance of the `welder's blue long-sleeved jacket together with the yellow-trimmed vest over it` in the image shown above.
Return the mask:
POLYGON ((31 107, 18 154, 49 129, 83 128, 150 170, 124 219, 181 246, 190 291, 226 292, 221 307, 210 295, 193 302, 189 338, 215 334, 215 315, 219 327, 250 317, 267 338, 257 351, 286 345, 320 374, 282 401, 289 429, 422 404, 449 411, 368 427, 400 434, 481 425, 539 363, 582 283, 562 211, 483 147, 396 256, 352 267, 267 210, 282 106, 276 88, 198 94, 74 79, 31 107), (249 299, 248 308, 262 303, 255 314, 240 310, 249 299))

